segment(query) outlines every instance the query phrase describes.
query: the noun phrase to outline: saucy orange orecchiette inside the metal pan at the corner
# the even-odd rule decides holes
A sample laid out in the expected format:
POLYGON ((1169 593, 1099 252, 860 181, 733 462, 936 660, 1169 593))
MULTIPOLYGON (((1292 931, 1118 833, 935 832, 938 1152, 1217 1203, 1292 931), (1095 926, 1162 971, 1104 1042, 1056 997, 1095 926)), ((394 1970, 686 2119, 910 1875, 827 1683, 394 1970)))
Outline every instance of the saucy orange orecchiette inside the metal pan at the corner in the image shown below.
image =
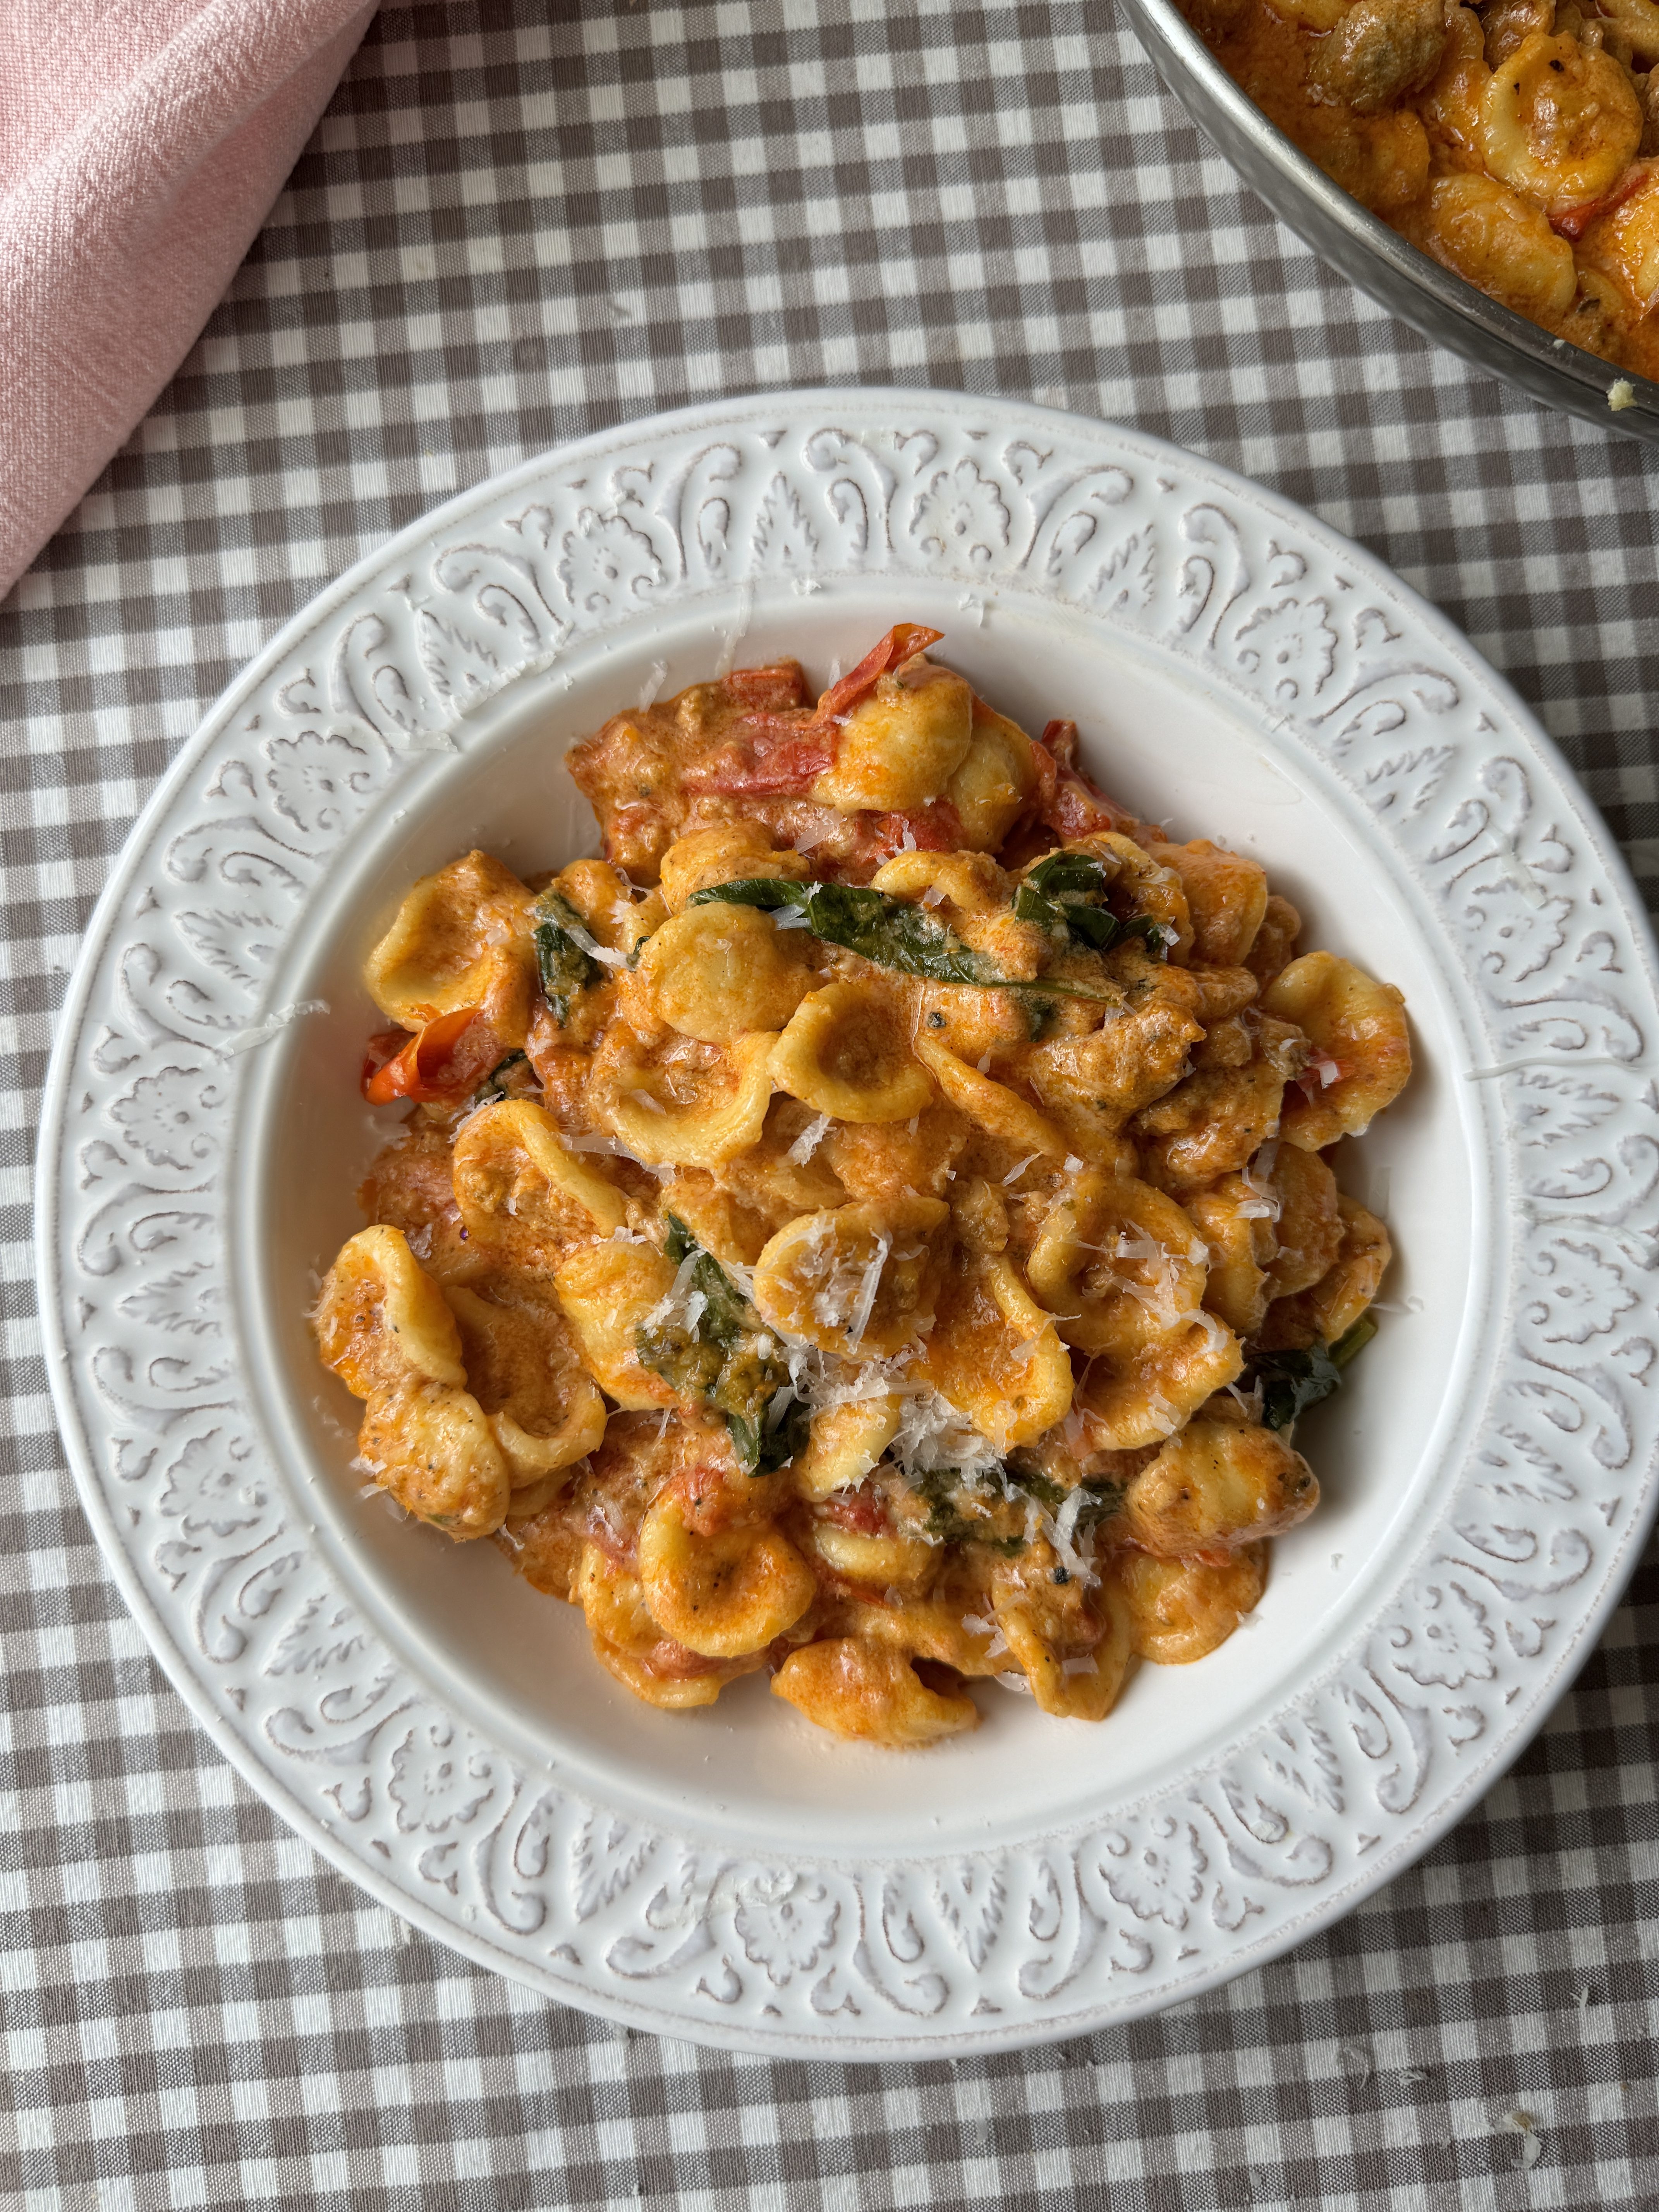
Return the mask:
POLYGON ((1655 0, 1179 0, 1305 155, 1405 239, 1659 374, 1655 0))

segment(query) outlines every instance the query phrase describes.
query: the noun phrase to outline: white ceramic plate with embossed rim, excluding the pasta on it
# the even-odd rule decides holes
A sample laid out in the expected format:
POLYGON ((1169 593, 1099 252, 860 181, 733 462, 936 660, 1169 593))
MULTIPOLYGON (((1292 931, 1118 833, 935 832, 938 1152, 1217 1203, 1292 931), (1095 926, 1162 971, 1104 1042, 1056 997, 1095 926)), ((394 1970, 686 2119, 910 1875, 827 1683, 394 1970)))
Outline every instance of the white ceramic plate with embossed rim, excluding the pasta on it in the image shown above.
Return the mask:
POLYGON ((144 814, 64 1009, 40 1292, 86 1511, 228 1759, 396 1911, 551 1995, 765 2053, 1004 2048, 1272 1958, 1542 1721, 1652 1509, 1652 947, 1531 717, 1429 606, 1190 453, 1033 407, 699 407, 484 484, 254 661, 144 814), (580 1617, 349 1473, 305 1329, 396 1117, 358 964, 471 843, 588 849, 566 741, 889 622, 1405 987, 1352 1148, 1400 1259, 1310 1418, 1252 1626, 1102 1728, 984 1690, 925 1754, 748 1679, 635 1703, 580 1617), (323 1004, 316 1004, 323 1002, 323 1004), (314 1011, 305 1011, 314 1006, 314 1011))

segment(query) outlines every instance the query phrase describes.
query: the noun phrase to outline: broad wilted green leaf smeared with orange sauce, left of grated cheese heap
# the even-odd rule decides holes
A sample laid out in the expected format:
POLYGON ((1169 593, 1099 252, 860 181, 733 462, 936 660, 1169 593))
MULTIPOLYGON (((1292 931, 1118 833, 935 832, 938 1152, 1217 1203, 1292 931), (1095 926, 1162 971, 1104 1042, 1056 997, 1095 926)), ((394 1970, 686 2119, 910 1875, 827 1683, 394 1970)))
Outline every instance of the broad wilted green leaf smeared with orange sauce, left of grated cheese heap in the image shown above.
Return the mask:
POLYGON ((790 1389, 776 1336, 677 1214, 668 1214, 664 1250, 675 1265, 695 1259, 688 1290, 701 1292, 703 1305, 692 1327, 684 1321, 641 1327, 641 1363, 681 1398, 701 1398, 723 1416, 743 1473, 785 1467, 805 1444, 807 1411, 785 1402, 776 1418, 772 1413, 779 1394, 790 1389))

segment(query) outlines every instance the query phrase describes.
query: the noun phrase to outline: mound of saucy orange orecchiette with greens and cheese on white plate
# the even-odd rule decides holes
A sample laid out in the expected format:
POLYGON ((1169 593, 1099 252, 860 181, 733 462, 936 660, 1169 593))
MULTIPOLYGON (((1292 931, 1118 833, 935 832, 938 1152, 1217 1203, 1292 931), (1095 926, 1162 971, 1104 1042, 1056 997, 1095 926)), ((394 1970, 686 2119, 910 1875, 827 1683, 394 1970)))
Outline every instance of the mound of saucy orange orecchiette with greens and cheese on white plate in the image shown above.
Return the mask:
POLYGON ((896 1747, 975 1681, 1102 1721, 1256 1606, 1389 1265, 1345 1139, 1411 1071, 1254 860, 938 644, 615 714, 604 858, 407 891, 363 1091, 409 1117, 316 1307, 369 1484, 628 1690, 768 1670, 896 1747))

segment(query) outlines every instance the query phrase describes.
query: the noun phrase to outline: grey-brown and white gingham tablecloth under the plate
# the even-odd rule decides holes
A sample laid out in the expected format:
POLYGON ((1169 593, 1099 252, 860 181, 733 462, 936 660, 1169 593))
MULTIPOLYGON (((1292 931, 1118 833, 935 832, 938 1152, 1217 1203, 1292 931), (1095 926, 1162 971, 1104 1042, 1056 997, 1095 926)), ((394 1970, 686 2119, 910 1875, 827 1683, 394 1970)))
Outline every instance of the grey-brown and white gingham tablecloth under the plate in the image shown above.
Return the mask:
POLYGON ((1104 4, 387 7, 175 385, 0 608, 7 2208, 1659 2203, 1652 1562, 1509 1781, 1329 1936, 1086 2042, 805 2066, 611 2028, 372 1905, 217 1759, 88 1537, 29 1170, 64 973, 153 783, 436 500, 838 380, 1035 396, 1303 500, 1520 686, 1659 891, 1659 456, 1325 272, 1104 4))

